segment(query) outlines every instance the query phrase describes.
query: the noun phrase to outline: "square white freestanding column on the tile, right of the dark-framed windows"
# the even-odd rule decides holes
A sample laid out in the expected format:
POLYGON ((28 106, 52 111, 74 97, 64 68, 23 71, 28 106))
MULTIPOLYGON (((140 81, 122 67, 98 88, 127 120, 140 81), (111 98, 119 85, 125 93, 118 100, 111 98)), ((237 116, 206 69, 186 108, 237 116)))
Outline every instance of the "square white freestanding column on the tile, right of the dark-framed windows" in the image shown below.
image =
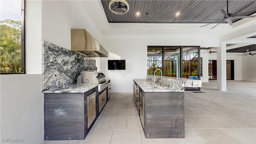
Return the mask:
POLYGON ((227 90, 226 60, 226 42, 222 42, 217 48, 217 90, 221 91, 227 90))

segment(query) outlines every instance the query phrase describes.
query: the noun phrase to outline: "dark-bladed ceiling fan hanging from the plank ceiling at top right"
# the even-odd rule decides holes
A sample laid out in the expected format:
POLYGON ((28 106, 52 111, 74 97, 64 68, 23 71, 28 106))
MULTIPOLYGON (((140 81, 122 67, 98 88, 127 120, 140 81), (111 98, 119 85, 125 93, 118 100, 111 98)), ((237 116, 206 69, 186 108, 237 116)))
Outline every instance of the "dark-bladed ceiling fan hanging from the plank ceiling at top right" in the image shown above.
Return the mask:
MULTIPOLYGON (((253 18, 255 16, 237 16, 237 14, 239 12, 241 12, 242 10, 244 10, 245 8, 247 8, 248 6, 250 6, 251 4, 253 4, 255 2, 255 0, 253 0, 252 2, 244 5, 242 8, 240 8, 239 10, 237 10, 236 12, 234 13, 228 13, 228 0, 227 0, 227 12, 226 10, 224 9, 221 9, 221 12, 222 14, 224 15, 224 18, 217 18, 217 19, 208 19, 208 20, 216 20, 214 22, 211 22, 210 24, 213 24, 213 23, 218 23, 216 26, 218 26, 219 24, 221 24, 222 22, 225 22, 227 21, 228 24, 231 26, 233 23, 232 23, 232 19, 240 19, 240 18, 253 18)), ((206 24, 204 26, 207 26, 209 24, 206 24)), ((211 29, 215 28, 216 26, 212 27, 211 29)), ((200 26, 200 28, 203 27, 203 26, 200 26)))

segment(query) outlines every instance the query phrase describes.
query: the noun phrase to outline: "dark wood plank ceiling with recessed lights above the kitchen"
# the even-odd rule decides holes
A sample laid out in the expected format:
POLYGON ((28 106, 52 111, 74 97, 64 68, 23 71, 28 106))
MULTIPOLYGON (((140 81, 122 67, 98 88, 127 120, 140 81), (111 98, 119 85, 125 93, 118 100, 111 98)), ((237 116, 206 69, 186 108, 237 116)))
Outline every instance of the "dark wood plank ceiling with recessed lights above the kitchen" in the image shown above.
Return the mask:
MULTIPOLYGON (((101 0, 109 23, 210 23, 224 18, 221 9, 227 11, 226 0, 126 0, 130 10, 126 14, 114 14, 108 8, 110 0, 101 0), (140 14, 137 16, 136 13, 140 14), (148 14, 146 14, 148 13, 148 14), (176 13, 180 13, 176 16, 176 13)), ((234 13, 252 0, 228 0, 228 13, 234 13)), ((256 13, 256 2, 238 13, 248 16, 256 13)), ((236 22, 240 19, 234 19, 236 22)), ((226 23, 226 21, 224 22, 226 23)))

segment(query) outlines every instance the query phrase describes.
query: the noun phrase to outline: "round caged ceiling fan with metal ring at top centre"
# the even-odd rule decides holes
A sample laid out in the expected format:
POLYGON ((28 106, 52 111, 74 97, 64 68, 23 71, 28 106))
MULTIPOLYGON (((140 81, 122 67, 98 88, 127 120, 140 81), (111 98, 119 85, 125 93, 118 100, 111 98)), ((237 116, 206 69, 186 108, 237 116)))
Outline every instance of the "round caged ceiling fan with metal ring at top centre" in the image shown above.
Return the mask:
POLYGON ((129 4, 125 0, 111 0, 108 7, 115 14, 125 14, 129 11, 129 4))

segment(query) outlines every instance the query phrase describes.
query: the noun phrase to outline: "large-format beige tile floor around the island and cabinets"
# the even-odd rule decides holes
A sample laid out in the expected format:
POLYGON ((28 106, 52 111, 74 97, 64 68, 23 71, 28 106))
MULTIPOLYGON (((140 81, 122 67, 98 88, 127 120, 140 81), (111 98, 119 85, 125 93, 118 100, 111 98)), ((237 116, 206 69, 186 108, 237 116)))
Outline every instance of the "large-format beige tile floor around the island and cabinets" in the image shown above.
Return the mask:
POLYGON ((216 81, 202 92, 185 92, 185 138, 145 138, 132 93, 111 98, 85 140, 44 141, 42 144, 256 144, 256 83, 216 81))

